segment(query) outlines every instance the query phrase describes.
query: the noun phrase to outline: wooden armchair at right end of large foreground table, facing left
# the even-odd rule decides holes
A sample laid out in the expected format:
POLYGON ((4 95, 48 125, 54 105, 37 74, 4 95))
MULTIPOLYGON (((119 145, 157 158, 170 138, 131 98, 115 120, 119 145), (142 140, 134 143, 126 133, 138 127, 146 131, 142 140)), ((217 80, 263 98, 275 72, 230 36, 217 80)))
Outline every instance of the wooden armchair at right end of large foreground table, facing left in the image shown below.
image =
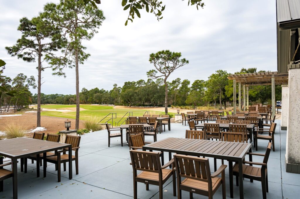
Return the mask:
MULTIPOLYGON (((257 155, 257 156, 262 156, 264 157, 262 163, 259 162, 250 162, 250 161, 243 161, 243 177, 248 178, 250 180, 257 180, 260 181, 262 184, 262 198, 266 199, 267 198, 267 193, 269 192, 268 190, 268 171, 267 171, 267 163, 271 151, 271 144, 268 143, 267 150, 265 151, 265 154, 259 154, 259 153, 248 153, 251 155, 257 155), (259 165, 259 167, 255 166, 250 166, 250 165, 259 165)), ((235 175, 236 178, 236 185, 238 186, 238 164, 234 164, 233 169, 232 169, 233 175, 235 175)))

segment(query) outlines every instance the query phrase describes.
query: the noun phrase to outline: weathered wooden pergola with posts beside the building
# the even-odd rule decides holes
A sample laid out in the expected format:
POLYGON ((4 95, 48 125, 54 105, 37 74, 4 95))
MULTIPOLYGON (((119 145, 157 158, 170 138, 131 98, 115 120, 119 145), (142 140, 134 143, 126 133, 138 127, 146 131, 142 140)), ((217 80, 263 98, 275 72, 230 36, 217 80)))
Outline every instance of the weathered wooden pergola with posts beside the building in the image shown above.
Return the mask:
POLYGON ((238 108, 241 110, 241 85, 244 90, 244 107, 247 99, 249 108, 249 85, 271 85, 272 87, 272 117, 275 115, 275 85, 288 84, 288 73, 262 72, 233 74, 227 78, 233 80, 233 111, 236 112, 236 83, 238 83, 238 108), (247 97, 247 98, 246 98, 247 97))

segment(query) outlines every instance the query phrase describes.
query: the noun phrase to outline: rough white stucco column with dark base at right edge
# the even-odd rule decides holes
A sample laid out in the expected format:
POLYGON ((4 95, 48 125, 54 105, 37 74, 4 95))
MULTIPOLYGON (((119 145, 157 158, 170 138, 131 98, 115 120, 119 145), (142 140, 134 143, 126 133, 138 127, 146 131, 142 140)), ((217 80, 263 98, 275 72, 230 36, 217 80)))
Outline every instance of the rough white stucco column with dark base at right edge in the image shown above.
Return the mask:
POLYGON ((290 64, 286 133, 286 172, 300 174, 300 64, 290 64))

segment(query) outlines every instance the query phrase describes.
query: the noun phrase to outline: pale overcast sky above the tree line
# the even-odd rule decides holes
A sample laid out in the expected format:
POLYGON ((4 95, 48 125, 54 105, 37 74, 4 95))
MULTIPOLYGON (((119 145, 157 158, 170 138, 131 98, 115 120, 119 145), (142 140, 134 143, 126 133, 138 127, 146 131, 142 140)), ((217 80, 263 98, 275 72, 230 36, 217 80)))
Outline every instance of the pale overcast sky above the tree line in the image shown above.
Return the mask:
MULTIPOLYGON (((35 76, 37 63, 11 57, 4 49, 20 38, 19 19, 32 18, 47 2, 58 0, 0 1, 0 59, 6 64, 4 74, 11 78, 19 73, 35 76)), ((197 10, 187 0, 163 0, 163 19, 141 11, 134 22, 125 20, 121 0, 102 0, 98 5, 106 19, 90 41, 83 42, 91 56, 79 65, 79 89, 104 88, 126 81, 147 79, 154 69, 149 54, 160 50, 181 52, 189 64, 174 71, 168 81, 176 78, 207 80, 216 70, 229 73, 242 67, 277 71, 276 2, 274 0, 203 0, 197 10)), ((47 64, 44 63, 43 66, 47 64)), ((53 76, 51 69, 42 72, 44 94, 75 94, 75 69, 66 69, 66 78, 53 76)), ((37 89, 31 89, 35 94, 37 89)))

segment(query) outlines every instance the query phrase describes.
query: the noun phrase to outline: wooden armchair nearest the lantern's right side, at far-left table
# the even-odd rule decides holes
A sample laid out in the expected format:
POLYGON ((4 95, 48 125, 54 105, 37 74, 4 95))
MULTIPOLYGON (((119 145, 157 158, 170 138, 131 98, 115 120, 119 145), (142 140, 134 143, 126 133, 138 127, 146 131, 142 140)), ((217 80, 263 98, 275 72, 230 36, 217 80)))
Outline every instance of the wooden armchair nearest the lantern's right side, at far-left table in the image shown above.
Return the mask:
MULTIPOLYGON (((72 144, 72 151, 75 151, 75 155, 72 155, 72 161, 75 161, 76 175, 79 173, 78 168, 78 149, 80 143, 80 136, 66 135, 65 144, 72 144)), ((57 167, 58 182, 60 182, 61 163, 64 164, 64 171, 66 171, 66 163, 69 162, 69 155, 66 154, 67 150, 57 151, 55 156, 47 157, 46 161, 55 164, 57 167), (62 153, 62 154, 61 154, 62 153)))

